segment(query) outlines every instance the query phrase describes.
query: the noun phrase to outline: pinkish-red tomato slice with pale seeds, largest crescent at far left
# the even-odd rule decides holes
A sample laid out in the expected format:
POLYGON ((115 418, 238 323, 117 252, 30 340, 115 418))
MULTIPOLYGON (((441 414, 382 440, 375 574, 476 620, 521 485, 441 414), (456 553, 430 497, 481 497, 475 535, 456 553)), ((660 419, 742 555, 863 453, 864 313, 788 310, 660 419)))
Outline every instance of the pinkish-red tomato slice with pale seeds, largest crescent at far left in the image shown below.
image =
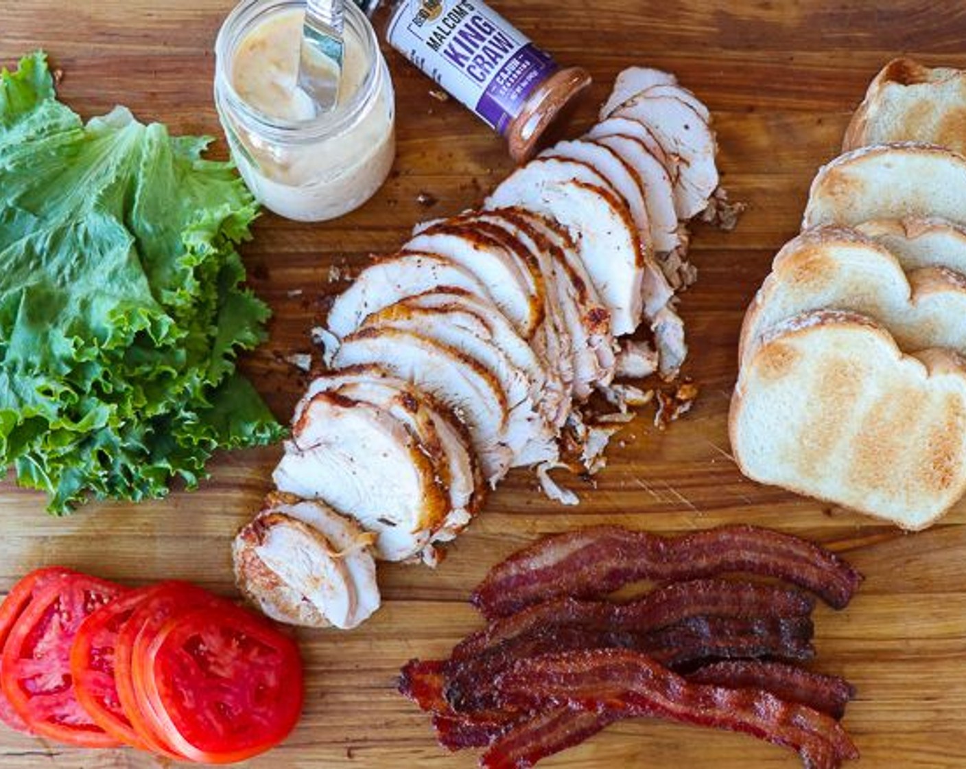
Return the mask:
POLYGON ((87 748, 119 744, 74 695, 71 644, 84 619, 124 592, 102 579, 69 575, 38 591, 14 623, 3 652, 3 691, 33 731, 87 748))

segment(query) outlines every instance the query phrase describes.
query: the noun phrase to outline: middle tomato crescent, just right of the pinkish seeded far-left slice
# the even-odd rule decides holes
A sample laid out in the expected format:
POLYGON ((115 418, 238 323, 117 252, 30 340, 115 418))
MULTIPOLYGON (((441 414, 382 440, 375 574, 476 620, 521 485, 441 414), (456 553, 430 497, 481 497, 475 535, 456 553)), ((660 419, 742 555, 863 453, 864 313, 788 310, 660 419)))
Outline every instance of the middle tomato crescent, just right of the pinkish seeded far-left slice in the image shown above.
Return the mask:
POLYGON ((143 587, 101 606, 84 620, 71 647, 71 678, 77 701, 95 724, 115 739, 146 749, 121 705, 115 680, 115 649, 122 626, 156 587, 143 587))

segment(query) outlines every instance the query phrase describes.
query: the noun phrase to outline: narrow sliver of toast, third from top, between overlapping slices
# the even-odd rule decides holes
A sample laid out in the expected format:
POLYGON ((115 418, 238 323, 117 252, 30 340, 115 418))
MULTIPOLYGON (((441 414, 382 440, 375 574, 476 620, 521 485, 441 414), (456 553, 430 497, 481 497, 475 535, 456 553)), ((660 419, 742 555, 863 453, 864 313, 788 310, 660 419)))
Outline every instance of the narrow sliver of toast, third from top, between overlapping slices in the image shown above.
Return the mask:
POLYGON ((895 254, 902 269, 948 267, 966 275, 966 227, 938 217, 873 219, 856 230, 895 254))

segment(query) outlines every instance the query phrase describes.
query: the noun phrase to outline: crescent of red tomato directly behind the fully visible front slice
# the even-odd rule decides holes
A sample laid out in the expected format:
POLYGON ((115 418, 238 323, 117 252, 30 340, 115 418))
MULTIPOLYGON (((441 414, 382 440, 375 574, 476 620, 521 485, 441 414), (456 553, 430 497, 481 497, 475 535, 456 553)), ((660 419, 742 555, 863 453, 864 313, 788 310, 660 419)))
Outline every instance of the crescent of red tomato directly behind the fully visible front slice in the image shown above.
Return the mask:
POLYGON ((128 722, 141 742, 155 753, 172 758, 184 758, 167 741, 156 726, 147 703, 136 694, 134 674, 139 649, 147 648, 157 631, 172 616, 201 606, 223 603, 211 593, 187 582, 169 581, 156 585, 152 595, 131 613, 121 627, 114 652, 114 680, 118 698, 128 722))

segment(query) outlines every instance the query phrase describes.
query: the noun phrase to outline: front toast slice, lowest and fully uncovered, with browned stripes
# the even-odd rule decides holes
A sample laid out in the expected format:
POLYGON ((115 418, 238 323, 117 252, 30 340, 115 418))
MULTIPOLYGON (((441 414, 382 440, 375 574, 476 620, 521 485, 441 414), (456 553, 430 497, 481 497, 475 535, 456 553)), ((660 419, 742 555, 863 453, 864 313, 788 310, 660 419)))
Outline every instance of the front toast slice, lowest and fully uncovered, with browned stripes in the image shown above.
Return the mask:
POLYGON ((903 355, 856 313, 798 315, 742 370, 729 430, 749 478, 922 529, 966 491, 966 362, 903 355))

